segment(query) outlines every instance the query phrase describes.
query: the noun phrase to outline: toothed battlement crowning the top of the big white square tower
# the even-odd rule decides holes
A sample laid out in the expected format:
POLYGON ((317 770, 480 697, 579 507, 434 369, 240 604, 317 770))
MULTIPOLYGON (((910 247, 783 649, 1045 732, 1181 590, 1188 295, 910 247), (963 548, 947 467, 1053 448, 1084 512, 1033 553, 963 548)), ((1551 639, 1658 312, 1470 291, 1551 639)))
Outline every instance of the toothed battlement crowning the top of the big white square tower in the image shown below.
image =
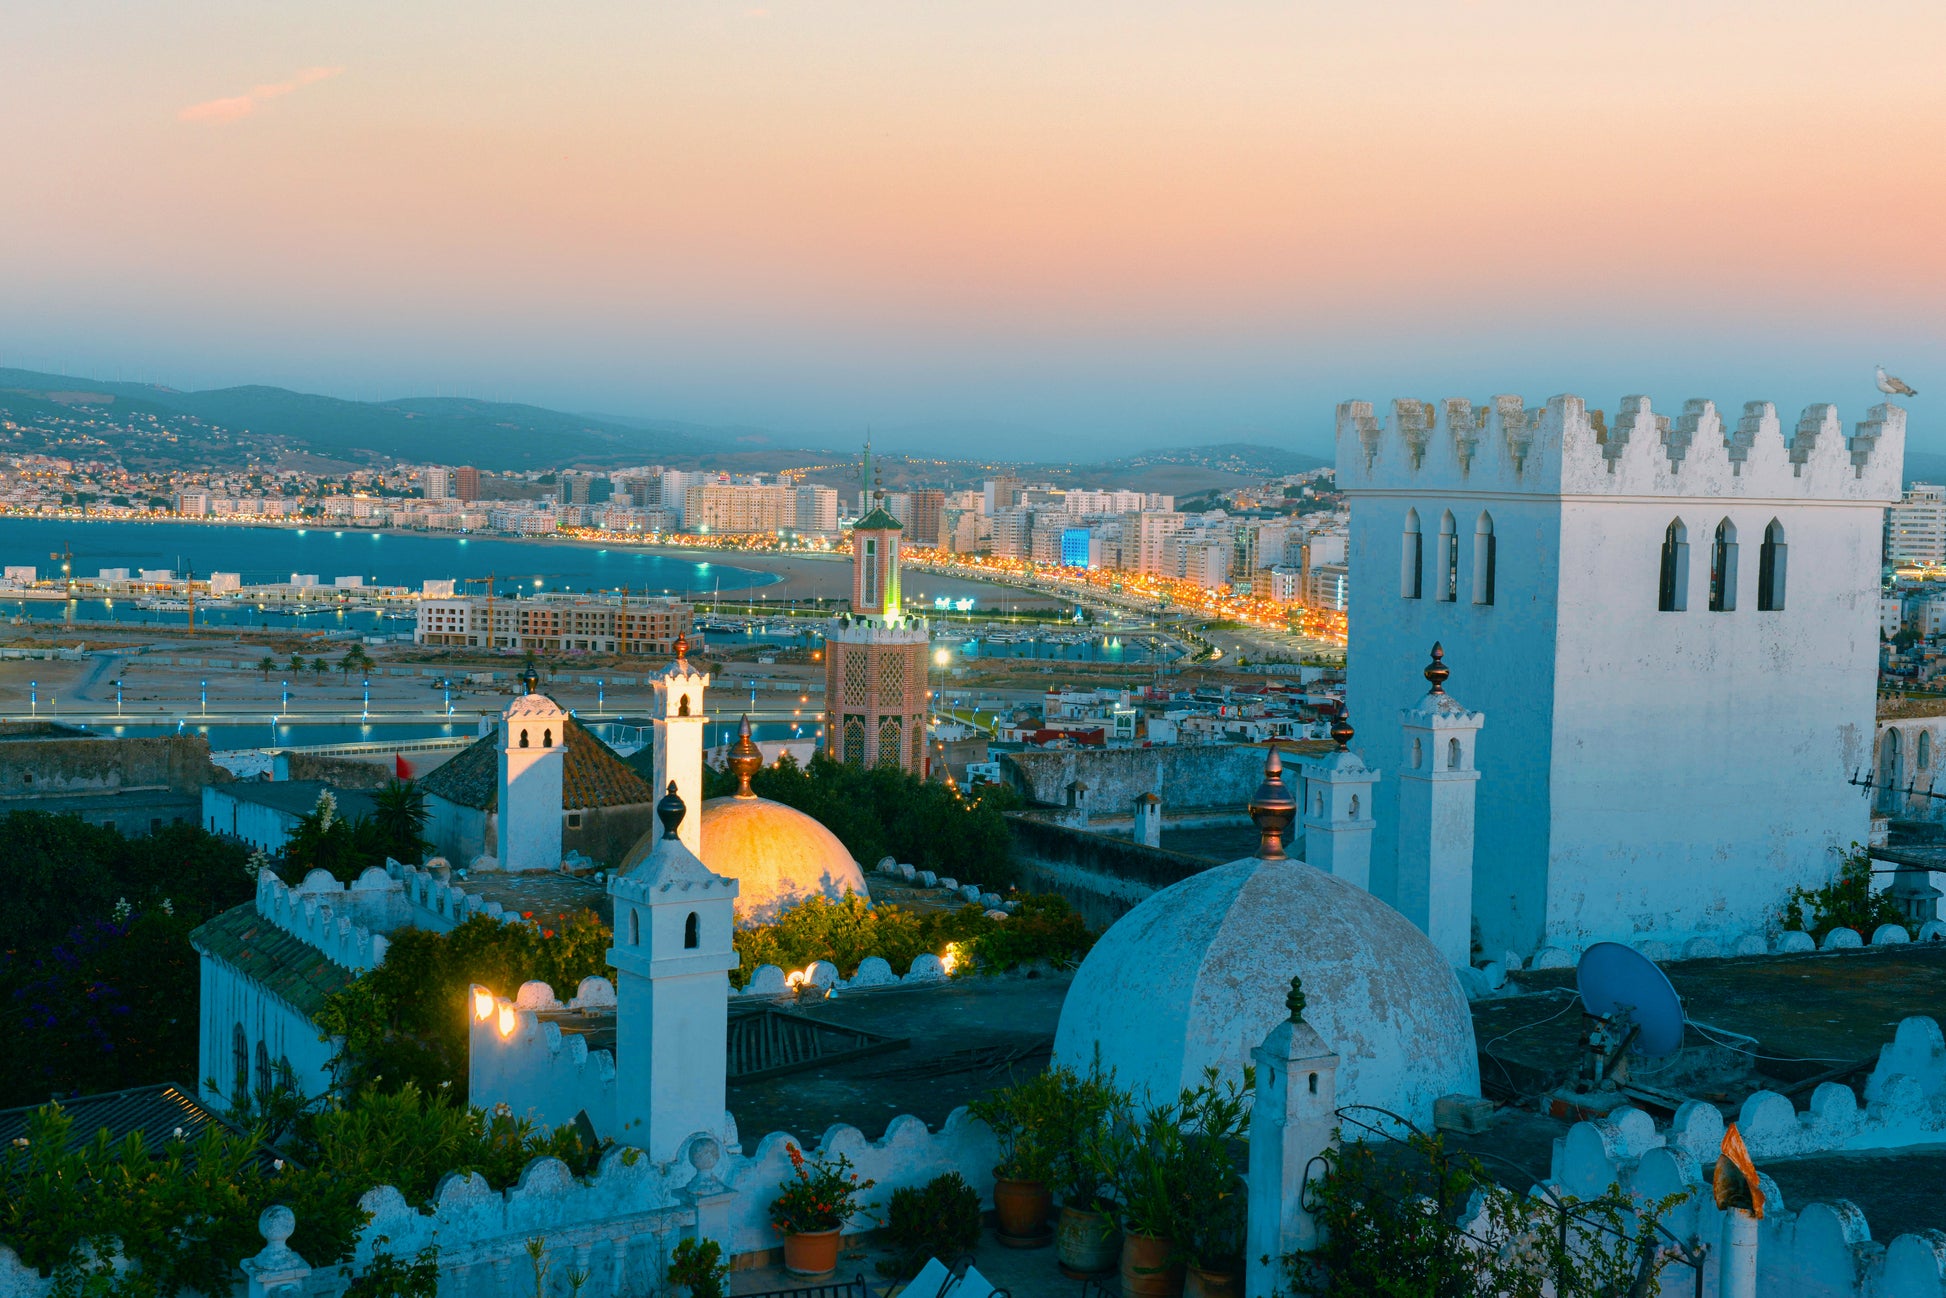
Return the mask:
POLYGON ((1769 401, 1724 415, 1691 399, 1666 415, 1623 397, 1613 415, 1574 395, 1528 409, 1397 399, 1337 409, 1341 490, 1477 490, 1543 496, 1802 498, 1893 504, 1905 465, 1905 409, 1882 403, 1845 432, 1835 405, 1786 426, 1769 401))

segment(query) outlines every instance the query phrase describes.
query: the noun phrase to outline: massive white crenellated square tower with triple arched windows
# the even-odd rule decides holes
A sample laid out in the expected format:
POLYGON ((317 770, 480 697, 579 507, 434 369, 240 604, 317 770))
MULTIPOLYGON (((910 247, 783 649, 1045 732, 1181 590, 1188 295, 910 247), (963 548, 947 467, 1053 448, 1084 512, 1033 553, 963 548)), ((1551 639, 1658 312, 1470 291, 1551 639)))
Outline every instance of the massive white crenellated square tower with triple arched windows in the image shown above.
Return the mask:
MULTIPOLYGON (((1405 706, 1432 640, 1483 664, 1485 950, 1761 928, 1866 839, 1847 778, 1870 761, 1903 450, 1895 405, 1849 434, 1835 407, 1784 424, 1763 401, 1339 407, 1347 701, 1405 706)), ((1395 905, 1403 786, 1376 788, 1372 845, 1395 905)))

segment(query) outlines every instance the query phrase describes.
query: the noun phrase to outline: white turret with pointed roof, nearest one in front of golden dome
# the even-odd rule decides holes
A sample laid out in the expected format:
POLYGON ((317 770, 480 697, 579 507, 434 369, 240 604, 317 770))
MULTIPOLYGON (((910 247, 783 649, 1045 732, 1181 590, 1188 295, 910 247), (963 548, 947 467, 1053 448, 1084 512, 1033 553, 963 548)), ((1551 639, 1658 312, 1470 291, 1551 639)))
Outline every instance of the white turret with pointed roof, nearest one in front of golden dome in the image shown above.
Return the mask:
POLYGON ((730 969, 738 965, 736 880, 710 874, 683 823, 699 819, 667 784, 662 837, 609 880, 615 903, 617 1138, 669 1162, 726 1109, 730 969))

